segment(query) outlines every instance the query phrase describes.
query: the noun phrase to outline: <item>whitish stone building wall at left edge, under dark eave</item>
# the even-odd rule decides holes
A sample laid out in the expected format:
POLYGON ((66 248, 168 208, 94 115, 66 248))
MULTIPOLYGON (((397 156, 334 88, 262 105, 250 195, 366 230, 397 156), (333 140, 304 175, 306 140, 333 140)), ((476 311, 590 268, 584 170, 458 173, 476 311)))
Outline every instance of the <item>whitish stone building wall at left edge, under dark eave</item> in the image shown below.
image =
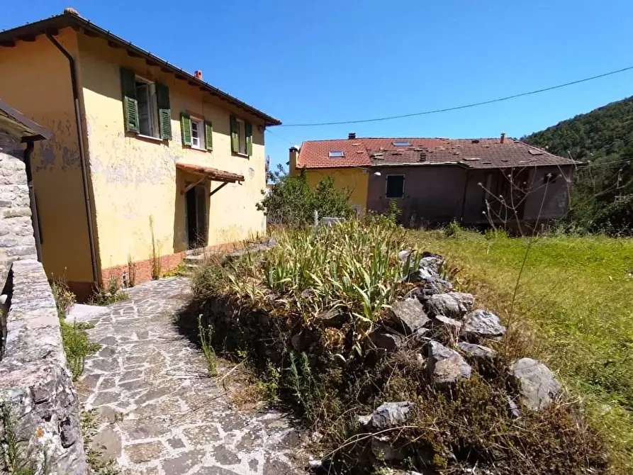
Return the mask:
POLYGON ((0 289, 11 263, 37 259, 23 150, 0 150, 0 289))

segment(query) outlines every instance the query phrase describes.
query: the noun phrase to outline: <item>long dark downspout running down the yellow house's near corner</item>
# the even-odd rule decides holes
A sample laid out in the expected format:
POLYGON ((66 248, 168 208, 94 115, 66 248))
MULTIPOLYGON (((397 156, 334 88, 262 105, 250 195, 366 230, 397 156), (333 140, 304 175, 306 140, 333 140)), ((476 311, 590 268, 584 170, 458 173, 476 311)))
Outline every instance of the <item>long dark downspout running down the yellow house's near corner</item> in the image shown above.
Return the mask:
POLYGON ((70 82, 72 84, 72 99, 74 101, 74 118, 77 122, 77 140, 79 140, 79 162, 82 167, 82 181, 84 184, 84 203, 86 204, 86 220, 88 220, 88 240, 90 242, 90 257, 92 262, 92 283, 99 286, 99 272, 96 267, 96 248, 94 245, 94 227, 92 223, 92 207, 90 203, 90 189, 88 186, 88 170, 86 168, 86 150, 84 148, 84 134, 82 124, 82 113, 79 108, 79 88, 77 86, 77 72, 75 71, 75 62, 72 55, 64 49, 60 43, 53 38, 50 33, 46 33, 46 37, 50 43, 62 52, 62 55, 68 60, 70 68, 70 82))

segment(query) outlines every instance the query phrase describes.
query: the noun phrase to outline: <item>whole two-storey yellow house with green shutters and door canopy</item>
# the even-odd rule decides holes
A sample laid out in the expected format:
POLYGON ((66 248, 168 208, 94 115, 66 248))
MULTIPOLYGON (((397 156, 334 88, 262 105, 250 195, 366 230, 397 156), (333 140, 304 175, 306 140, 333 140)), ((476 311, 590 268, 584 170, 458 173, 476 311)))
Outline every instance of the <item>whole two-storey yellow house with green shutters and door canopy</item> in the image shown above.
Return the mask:
POLYGON ((33 151, 39 245, 80 298, 128 261, 150 279, 152 244, 165 271, 265 233, 276 118, 72 9, 0 32, 0 70, 0 97, 54 135, 33 151))

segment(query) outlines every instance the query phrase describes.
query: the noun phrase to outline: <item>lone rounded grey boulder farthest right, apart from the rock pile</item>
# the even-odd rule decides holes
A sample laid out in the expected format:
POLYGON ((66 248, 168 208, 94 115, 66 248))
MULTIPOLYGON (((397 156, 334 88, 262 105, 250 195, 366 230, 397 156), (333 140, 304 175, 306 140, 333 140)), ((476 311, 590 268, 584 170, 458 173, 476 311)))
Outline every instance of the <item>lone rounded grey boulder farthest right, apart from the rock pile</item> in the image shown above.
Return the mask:
POLYGON ((554 373, 536 359, 517 359, 510 367, 510 376, 517 385, 521 401, 532 410, 547 408, 561 392, 554 373))

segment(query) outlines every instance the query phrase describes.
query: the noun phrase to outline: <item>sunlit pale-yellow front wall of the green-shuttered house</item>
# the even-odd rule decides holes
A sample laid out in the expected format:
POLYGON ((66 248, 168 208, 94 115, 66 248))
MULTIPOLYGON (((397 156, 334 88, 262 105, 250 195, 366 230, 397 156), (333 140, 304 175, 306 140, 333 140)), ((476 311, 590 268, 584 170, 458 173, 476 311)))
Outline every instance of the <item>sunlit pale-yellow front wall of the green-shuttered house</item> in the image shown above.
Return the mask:
MULTIPOLYGON (((106 40, 79 35, 86 110, 89 162, 101 268, 151 255, 150 218, 161 255, 186 249, 185 198, 180 191, 196 177, 177 172, 176 162, 199 164, 242 174, 242 184, 228 184, 208 200, 208 244, 235 242, 265 232, 265 219, 255 203, 266 186, 262 122, 231 108, 174 74, 162 73, 145 60, 108 47, 106 40), (169 86, 172 135, 168 143, 125 133, 121 103, 121 66, 169 86), (181 145, 180 113, 189 111, 213 122, 213 152, 181 145), (253 123, 253 155, 233 156, 230 114, 253 123)), ((219 186, 213 182, 210 189, 219 186)))

